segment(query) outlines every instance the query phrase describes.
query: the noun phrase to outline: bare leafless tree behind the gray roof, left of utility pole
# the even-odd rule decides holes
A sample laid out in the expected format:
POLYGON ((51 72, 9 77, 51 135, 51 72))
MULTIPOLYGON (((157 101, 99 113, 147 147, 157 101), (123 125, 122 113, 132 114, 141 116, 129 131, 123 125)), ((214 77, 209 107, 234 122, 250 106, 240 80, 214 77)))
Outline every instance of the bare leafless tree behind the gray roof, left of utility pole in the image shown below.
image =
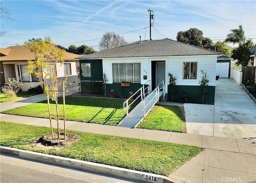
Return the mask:
POLYGON ((126 45, 127 41, 124 40, 123 36, 120 36, 114 31, 104 33, 103 37, 100 39, 100 51, 119 47, 122 45, 126 45))

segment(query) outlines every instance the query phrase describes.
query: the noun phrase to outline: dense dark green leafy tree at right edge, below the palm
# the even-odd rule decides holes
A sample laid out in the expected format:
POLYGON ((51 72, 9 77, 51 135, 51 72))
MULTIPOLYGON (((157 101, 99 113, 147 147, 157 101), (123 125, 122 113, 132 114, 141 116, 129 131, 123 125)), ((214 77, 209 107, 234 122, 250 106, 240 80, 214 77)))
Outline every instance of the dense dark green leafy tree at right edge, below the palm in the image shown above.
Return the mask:
POLYGON ((236 65, 247 66, 248 63, 252 63, 250 60, 250 50, 254 47, 252 39, 248 39, 245 43, 239 45, 232 51, 232 58, 237 59, 236 65))

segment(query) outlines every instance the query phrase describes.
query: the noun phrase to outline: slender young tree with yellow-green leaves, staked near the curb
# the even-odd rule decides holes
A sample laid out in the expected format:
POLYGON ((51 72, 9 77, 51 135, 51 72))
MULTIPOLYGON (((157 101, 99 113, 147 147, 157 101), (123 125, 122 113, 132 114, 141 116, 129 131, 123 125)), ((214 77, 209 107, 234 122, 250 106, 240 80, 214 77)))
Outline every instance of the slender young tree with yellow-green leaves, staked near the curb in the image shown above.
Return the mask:
MULTIPOLYGON (((50 37, 45 37, 44 40, 39 41, 26 41, 24 43, 25 47, 30 49, 31 51, 36 53, 36 61, 28 60, 28 67, 27 72, 32 73, 34 72, 37 77, 41 76, 42 73, 45 76, 45 82, 46 82, 46 88, 44 89, 44 92, 47 95, 47 98, 49 95, 52 95, 52 100, 55 101, 56 105, 56 121, 57 121, 57 130, 58 130, 58 139, 60 138, 60 126, 59 126, 59 111, 58 111, 58 93, 59 89, 62 87, 66 87, 65 84, 62 84, 63 81, 58 80, 57 78, 57 65, 62 65, 64 62, 64 57, 66 54, 65 50, 59 49, 56 47, 54 43, 52 43, 52 40, 50 37), (37 71, 35 69, 38 68, 37 71), (41 70, 40 70, 41 69, 41 70), (46 77, 50 79, 50 83, 47 83, 46 77), (50 86, 50 89, 48 87, 50 86), (65 85, 62 86, 61 85, 65 85)), ((64 83, 66 83, 66 80, 64 80, 64 83)), ((51 123, 51 115, 50 115, 50 107, 48 107, 49 110, 49 117, 50 117, 50 123, 51 123)), ((52 130, 52 129, 51 129, 52 130)), ((64 129, 66 130, 66 129, 64 129)), ((53 132, 52 132, 53 137, 53 132)))

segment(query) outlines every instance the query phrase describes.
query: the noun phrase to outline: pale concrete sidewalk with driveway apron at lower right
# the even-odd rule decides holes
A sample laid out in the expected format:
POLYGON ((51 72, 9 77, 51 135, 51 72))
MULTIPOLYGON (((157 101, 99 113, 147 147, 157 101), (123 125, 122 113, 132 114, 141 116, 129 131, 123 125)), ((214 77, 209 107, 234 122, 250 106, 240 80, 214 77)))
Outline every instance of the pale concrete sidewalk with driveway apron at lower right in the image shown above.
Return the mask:
MULTIPOLYGON (((12 102, 6 102, 11 108, 12 102)), ((14 101, 15 103, 15 101, 14 101)), ((22 101, 20 101, 22 104, 22 101)), ((20 105, 21 105, 20 104, 20 105)), ((28 103, 23 103, 26 105, 28 103)), ((2 111, 2 104, 1 111, 2 111)), ((14 108, 14 106, 12 106, 14 108)), ((49 119, 0 114, 0 120, 50 127, 49 119)), ((53 123, 56 128, 56 122, 53 123)), ((60 120, 60 128, 63 121, 60 120)), ((66 128, 83 132, 187 144, 206 148, 168 177, 176 182, 217 183, 256 182, 256 141, 183 134, 146 129, 130 129, 101 124, 66 121, 66 128)))

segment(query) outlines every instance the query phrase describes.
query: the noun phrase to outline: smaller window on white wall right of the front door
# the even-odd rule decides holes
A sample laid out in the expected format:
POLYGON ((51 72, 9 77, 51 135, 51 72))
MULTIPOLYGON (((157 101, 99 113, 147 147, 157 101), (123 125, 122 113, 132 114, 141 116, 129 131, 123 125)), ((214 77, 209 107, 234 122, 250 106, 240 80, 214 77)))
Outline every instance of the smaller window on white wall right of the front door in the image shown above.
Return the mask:
POLYGON ((196 79, 197 62, 183 62, 183 79, 196 79))

